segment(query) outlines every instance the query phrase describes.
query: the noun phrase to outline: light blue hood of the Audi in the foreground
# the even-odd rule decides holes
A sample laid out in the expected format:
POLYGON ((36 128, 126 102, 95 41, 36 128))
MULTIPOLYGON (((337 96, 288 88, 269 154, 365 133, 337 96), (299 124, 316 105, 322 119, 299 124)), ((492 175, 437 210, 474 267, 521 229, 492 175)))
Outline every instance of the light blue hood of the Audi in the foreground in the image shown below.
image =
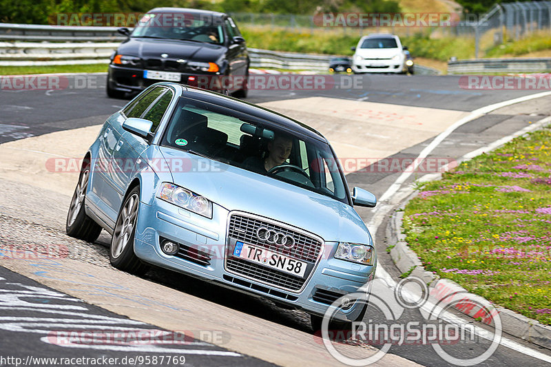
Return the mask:
POLYGON ((185 151, 160 147, 160 152, 168 162, 179 159, 185 162, 183 169, 171 169, 176 185, 228 211, 245 211, 285 222, 328 242, 372 243, 362 218, 350 205, 185 151))

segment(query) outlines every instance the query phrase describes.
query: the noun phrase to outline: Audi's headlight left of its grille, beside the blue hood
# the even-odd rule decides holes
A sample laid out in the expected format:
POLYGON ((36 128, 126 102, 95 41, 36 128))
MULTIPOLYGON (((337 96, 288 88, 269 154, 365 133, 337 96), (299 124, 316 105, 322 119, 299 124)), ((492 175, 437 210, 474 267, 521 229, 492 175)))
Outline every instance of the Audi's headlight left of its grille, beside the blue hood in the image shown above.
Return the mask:
POLYGON ((157 198, 163 199, 178 207, 193 211, 207 218, 212 218, 212 202, 193 191, 184 189, 169 182, 160 185, 157 198))

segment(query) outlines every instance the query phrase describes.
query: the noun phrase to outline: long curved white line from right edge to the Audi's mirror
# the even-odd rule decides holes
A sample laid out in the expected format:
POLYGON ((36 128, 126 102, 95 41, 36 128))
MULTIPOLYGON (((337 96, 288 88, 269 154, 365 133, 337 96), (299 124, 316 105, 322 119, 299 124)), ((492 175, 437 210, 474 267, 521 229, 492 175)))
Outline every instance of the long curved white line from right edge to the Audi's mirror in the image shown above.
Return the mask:
MULTIPOLYGON (((488 114, 488 112, 492 112, 495 109, 506 107, 508 105, 514 105, 514 103, 530 101, 530 99, 540 98, 543 96, 550 96, 550 95, 551 95, 551 92, 531 94, 530 96, 523 96, 520 98, 510 99, 509 101, 494 103, 493 105, 481 107, 479 109, 475 109, 474 111, 470 112, 470 114, 468 114, 464 118, 459 119, 459 121, 457 121, 456 123, 448 127, 448 129, 444 130, 444 132, 441 132, 440 134, 438 134, 436 138, 434 138, 434 140, 431 141, 430 144, 427 145, 425 149, 421 151, 421 153, 419 153, 419 156, 417 156, 417 158, 413 160, 413 163, 404 170, 404 172, 397 178, 397 180, 391 185, 391 187, 388 187, 385 193, 383 193, 383 195, 380 197, 379 201, 382 202, 384 200, 387 200, 391 196, 393 196, 393 194, 396 191, 398 191, 400 186, 402 186, 402 184, 409 178, 409 176, 413 174, 413 172, 415 171, 415 169, 417 169, 421 161, 424 158, 426 158, 428 154, 430 154, 430 152, 432 152, 442 142, 442 140, 448 137, 451 133, 454 132, 455 129, 457 129, 461 125, 464 125, 470 122, 471 120, 474 120, 475 118, 483 116, 484 114, 488 114)), ((372 213, 373 212, 375 212, 375 208, 373 208, 372 213)))

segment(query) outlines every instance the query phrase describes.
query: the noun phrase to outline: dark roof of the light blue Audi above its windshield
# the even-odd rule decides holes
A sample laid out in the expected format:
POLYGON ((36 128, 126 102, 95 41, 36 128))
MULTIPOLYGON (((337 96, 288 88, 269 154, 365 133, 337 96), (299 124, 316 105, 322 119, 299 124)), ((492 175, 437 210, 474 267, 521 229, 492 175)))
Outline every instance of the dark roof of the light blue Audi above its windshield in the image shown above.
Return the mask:
POLYGON ((301 123, 300 121, 293 120, 293 118, 290 118, 278 112, 272 111, 271 109, 260 107, 258 105, 254 105, 253 103, 249 103, 247 101, 241 101, 240 99, 233 98, 231 96, 225 96, 223 94, 211 92, 209 90, 202 90, 197 87, 191 87, 189 85, 181 85, 178 83, 170 83, 170 82, 160 82, 160 83, 156 83, 155 85, 166 85, 166 86, 177 85, 179 87, 182 87, 183 97, 197 99, 199 101, 213 103, 216 105, 220 105, 222 107, 234 109, 238 112, 249 114, 256 118, 266 120, 269 123, 278 125, 279 127, 290 129, 293 132, 298 132, 299 134, 302 134, 304 136, 309 136, 310 138, 314 138, 316 140, 320 140, 324 143, 329 144, 327 139, 322 134, 320 134, 320 132, 318 132, 317 130, 313 129, 312 127, 309 127, 308 125, 305 125, 304 123, 301 123))

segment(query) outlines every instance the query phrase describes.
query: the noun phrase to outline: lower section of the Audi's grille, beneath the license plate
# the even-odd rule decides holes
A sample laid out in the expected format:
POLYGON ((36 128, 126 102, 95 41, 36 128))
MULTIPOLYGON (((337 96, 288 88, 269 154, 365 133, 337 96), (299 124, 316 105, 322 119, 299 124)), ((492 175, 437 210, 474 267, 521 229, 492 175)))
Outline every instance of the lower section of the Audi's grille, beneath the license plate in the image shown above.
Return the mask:
POLYGON ((229 258, 226 266, 229 271, 252 277, 253 279, 262 280, 262 282, 291 291, 298 291, 306 281, 302 279, 302 277, 296 277, 295 275, 283 273, 282 271, 267 268, 255 264, 254 262, 238 258, 229 258))

